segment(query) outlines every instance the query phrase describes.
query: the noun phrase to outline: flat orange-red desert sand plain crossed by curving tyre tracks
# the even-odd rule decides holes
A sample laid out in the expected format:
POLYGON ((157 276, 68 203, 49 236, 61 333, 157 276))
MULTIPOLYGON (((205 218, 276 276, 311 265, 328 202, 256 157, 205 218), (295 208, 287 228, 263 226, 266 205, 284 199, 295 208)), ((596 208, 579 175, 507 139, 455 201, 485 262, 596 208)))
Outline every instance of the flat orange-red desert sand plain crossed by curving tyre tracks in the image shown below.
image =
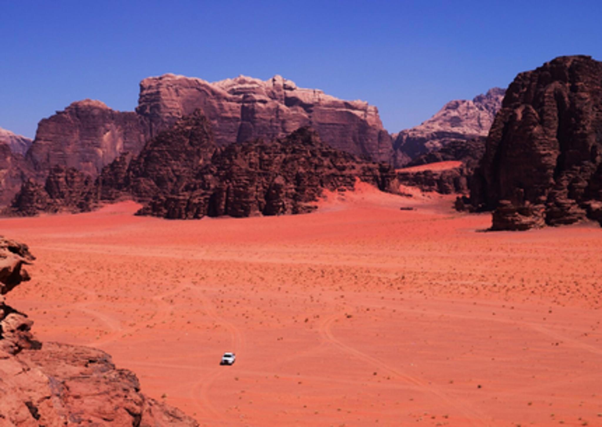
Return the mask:
POLYGON ((361 185, 301 216, 2 219, 38 258, 8 301, 201 425, 602 425, 602 230, 479 232, 451 203, 361 185))

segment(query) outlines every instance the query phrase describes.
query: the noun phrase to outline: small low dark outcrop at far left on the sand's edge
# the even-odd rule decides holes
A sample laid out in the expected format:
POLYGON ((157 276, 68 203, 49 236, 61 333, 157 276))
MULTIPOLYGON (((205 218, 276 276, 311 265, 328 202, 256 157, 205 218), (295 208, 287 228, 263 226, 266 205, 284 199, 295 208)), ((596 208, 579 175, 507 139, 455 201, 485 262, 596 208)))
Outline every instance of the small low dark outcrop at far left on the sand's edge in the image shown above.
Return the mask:
POLYGON ((50 170, 45 185, 28 179, 4 214, 35 216, 42 212, 88 212, 98 201, 98 187, 91 176, 73 167, 57 165, 50 170))

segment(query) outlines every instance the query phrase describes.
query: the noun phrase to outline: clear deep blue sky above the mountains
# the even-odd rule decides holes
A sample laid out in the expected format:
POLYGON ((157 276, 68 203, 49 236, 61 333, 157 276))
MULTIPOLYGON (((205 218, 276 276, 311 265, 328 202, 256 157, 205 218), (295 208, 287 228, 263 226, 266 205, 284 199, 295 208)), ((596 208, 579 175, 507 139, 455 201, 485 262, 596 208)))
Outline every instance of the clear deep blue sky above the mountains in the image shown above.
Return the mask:
POLYGON ((0 127, 72 101, 133 110, 166 72, 280 74, 376 105, 389 132, 559 55, 602 60, 602 1, 0 0, 0 127))

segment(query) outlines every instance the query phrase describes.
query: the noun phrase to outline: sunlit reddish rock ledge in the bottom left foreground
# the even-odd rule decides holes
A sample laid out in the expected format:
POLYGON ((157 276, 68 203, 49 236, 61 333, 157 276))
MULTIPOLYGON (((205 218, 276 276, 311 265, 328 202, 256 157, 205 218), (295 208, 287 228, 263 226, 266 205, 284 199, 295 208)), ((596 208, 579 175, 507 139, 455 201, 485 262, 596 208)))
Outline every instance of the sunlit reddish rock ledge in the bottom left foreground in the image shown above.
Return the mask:
POLYGON ((134 373, 105 352, 34 340, 33 322, 4 303, 33 260, 26 245, 0 237, 0 425, 198 426, 140 393, 134 373))

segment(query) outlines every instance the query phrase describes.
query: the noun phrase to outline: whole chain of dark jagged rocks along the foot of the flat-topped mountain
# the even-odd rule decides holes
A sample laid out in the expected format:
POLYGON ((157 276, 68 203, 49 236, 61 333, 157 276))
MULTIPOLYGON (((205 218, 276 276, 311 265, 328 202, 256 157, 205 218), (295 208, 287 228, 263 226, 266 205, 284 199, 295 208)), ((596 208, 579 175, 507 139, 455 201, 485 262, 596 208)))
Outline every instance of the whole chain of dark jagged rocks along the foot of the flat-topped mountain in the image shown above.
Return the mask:
MULTIPOLYGON (((284 139, 253 140, 219 148, 199 110, 149 140, 140 154, 123 154, 95 183, 75 169, 54 167, 46 185, 28 181, 13 214, 87 211, 99 200, 134 197, 141 214, 167 218, 303 213, 323 189, 353 189, 356 179, 396 192, 395 172, 321 142, 300 128, 284 139)), ((399 188, 399 185, 398 187, 399 188)))

